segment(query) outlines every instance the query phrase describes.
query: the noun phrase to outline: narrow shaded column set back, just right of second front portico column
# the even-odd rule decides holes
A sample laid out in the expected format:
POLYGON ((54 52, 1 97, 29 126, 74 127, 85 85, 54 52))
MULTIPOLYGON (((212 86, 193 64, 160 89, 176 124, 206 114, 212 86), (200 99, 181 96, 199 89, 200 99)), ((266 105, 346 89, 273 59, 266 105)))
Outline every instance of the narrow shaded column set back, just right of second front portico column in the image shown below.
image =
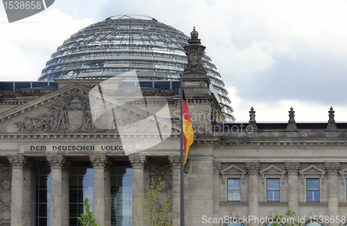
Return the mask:
POLYGON ((62 166, 62 226, 69 226, 69 170, 71 164, 70 159, 65 159, 65 164, 62 166))

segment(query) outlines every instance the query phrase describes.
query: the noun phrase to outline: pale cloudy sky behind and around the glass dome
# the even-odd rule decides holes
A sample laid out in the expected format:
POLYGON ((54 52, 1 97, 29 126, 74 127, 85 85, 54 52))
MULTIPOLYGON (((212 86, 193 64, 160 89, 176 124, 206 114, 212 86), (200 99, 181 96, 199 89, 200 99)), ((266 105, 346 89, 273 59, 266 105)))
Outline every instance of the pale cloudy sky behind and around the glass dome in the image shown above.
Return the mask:
POLYGON ((196 26, 226 83, 237 122, 347 121, 347 1, 56 0, 8 23, 0 6, 0 80, 37 80, 58 46, 118 14, 149 15, 186 35, 196 26))

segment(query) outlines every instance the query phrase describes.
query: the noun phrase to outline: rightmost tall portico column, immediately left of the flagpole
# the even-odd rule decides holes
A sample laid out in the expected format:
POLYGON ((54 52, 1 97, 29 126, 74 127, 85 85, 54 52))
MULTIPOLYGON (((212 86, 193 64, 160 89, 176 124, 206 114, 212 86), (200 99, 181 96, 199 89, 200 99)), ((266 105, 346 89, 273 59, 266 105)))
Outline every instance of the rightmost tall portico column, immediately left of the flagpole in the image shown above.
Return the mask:
POLYGON ((169 156, 172 166, 172 225, 180 225, 180 155, 169 156))

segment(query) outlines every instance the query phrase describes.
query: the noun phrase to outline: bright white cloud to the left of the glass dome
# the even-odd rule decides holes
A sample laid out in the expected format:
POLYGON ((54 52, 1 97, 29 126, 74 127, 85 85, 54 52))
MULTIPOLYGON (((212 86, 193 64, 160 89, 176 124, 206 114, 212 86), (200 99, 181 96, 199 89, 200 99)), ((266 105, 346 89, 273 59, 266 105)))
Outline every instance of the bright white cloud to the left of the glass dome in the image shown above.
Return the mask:
POLYGON ((11 24, 0 24, 0 80, 37 80, 56 48, 70 35, 92 24, 51 9, 11 24), (69 26, 67 26, 67 24, 69 26))

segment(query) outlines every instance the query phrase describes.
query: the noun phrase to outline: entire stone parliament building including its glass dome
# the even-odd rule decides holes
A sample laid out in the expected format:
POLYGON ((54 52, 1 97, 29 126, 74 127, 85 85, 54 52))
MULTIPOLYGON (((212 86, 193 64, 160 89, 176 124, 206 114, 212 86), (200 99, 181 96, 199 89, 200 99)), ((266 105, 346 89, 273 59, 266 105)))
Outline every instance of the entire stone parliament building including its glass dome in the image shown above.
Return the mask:
POLYGON ((37 81, 0 82, 0 226, 79 225, 86 197, 101 226, 143 222, 135 203, 159 177, 180 225, 180 74, 186 225, 267 226, 288 210, 346 225, 347 123, 332 107, 326 123, 296 123, 293 108, 257 123, 251 106, 237 123, 195 28, 117 15, 71 35, 37 81))

